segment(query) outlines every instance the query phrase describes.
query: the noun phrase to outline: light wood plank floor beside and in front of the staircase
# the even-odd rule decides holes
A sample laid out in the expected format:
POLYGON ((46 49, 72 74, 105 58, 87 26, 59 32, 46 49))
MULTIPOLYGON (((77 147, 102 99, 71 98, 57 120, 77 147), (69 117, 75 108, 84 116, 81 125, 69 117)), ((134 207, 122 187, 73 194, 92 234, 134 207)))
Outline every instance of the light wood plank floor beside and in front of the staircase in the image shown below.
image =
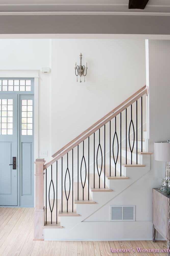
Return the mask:
POLYGON ((167 253, 137 252, 167 249, 165 241, 68 242, 33 241, 34 208, 0 208, 0 256, 165 256, 167 253), (110 253, 113 249, 130 249, 130 253, 110 253), (131 253, 132 249, 135 253, 131 253))

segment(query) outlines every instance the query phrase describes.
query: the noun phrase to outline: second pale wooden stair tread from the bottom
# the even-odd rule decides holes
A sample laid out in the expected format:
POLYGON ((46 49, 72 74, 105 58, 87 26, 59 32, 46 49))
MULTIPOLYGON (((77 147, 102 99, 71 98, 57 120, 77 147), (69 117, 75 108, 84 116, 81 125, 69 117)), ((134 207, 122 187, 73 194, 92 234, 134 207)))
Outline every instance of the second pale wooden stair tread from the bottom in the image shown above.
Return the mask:
MULTIPOLYGON (((69 195, 69 191, 66 191, 67 197, 69 195)), ((66 199, 65 190, 62 191, 62 199, 60 201, 60 210, 58 216, 79 216, 76 213, 76 205, 74 204, 74 191, 73 191, 73 211, 72 211, 72 191, 70 191, 69 199, 68 199, 68 212, 67 212, 67 199, 66 199), (63 207, 62 204, 63 203, 63 207), (61 211, 62 210, 62 211, 61 211)))

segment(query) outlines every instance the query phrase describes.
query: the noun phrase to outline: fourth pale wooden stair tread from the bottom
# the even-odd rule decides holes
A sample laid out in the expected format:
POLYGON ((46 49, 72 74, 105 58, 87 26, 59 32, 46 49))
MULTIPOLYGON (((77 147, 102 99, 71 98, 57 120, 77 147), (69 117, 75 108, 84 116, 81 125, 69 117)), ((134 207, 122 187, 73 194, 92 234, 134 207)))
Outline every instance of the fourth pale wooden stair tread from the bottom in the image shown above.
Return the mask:
MULTIPOLYGON (((88 177, 88 176, 87 176, 88 177)), ((100 177, 100 188, 99 188, 99 175, 95 173, 95 188, 94 188, 94 174, 89 174, 89 187, 92 192, 111 192, 112 189, 109 189, 106 185, 104 188, 104 181, 100 177)))

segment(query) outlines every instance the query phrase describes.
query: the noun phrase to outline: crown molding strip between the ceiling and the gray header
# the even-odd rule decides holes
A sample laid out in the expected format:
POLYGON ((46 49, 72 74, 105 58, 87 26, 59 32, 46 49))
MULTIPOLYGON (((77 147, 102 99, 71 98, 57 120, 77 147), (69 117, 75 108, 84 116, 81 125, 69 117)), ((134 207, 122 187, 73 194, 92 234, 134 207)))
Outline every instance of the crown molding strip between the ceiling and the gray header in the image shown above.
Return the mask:
POLYGON ((108 3, 28 3, 28 4, 0 4, 1 12, 12 13, 12 12, 128 12, 128 13, 168 13, 170 12, 170 4, 147 4, 144 10, 140 9, 128 9, 128 3, 123 4, 108 4, 108 3))

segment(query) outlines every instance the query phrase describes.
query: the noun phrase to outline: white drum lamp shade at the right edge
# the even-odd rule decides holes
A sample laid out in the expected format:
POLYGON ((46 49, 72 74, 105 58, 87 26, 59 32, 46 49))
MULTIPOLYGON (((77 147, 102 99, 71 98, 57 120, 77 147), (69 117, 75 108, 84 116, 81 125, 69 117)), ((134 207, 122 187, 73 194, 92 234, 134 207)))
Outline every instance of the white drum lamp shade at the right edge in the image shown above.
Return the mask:
POLYGON ((156 161, 170 162, 170 143, 154 142, 154 155, 156 161))

